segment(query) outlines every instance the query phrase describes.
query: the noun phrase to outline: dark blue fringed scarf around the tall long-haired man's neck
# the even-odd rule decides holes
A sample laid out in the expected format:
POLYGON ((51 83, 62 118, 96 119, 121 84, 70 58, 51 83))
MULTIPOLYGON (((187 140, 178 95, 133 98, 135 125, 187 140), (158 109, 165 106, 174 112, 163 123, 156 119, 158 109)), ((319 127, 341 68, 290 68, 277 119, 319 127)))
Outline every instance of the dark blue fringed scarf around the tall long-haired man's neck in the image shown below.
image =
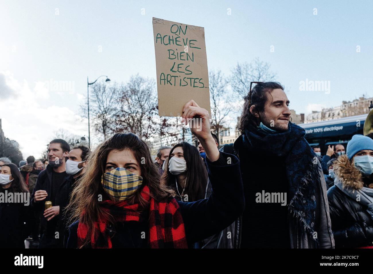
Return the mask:
POLYGON ((286 132, 275 134, 266 134, 250 125, 245 129, 244 143, 285 159, 288 194, 292 197, 288 210, 303 224, 305 232, 312 234, 316 220, 316 186, 320 183, 317 159, 320 157, 313 152, 304 135, 304 129, 291 122, 286 132))

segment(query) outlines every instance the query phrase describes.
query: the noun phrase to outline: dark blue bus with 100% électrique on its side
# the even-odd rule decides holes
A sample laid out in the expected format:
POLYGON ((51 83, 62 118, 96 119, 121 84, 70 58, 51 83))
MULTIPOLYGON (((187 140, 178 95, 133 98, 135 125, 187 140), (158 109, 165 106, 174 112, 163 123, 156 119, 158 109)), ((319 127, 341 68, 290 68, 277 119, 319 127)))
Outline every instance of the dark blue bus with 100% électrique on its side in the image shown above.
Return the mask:
POLYGON ((305 129, 305 139, 311 147, 319 146, 321 154, 325 155, 328 146, 342 144, 346 148, 352 135, 362 134, 364 122, 368 114, 343 117, 339 119, 298 124, 305 129))

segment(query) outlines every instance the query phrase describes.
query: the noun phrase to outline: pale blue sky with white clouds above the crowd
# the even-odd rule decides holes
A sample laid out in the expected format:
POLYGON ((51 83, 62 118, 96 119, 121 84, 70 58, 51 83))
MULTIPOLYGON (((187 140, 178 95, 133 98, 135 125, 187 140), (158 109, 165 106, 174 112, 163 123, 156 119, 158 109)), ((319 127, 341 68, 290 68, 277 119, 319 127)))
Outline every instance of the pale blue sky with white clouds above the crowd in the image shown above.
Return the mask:
POLYGON ((60 128, 88 135, 87 76, 156 77, 152 17, 203 26, 209 69, 269 62, 297 113, 373 96, 372 10, 373 1, 0 0, 3 130, 24 158, 40 156, 60 128), (330 93, 300 91, 306 79, 330 81, 330 93))

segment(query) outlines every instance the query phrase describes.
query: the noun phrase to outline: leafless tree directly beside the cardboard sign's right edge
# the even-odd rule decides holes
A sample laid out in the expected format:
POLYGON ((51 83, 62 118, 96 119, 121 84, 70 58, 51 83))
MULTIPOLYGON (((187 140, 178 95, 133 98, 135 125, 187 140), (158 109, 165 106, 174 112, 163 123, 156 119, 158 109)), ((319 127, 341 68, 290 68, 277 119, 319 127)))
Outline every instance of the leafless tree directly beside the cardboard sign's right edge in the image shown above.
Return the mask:
POLYGON ((227 127, 227 116, 231 112, 231 94, 227 90, 228 81, 223 73, 211 70, 209 73, 211 129, 219 136, 219 131, 227 127))

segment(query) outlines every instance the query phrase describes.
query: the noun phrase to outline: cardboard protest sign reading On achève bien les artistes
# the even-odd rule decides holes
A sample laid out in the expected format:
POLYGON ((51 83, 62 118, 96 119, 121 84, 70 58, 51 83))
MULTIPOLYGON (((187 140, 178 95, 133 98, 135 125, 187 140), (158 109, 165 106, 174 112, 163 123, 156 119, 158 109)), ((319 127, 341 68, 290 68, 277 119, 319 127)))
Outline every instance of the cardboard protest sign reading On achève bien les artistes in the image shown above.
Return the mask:
POLYGON ((204 28, 153 17, 153 32, 158 114, 181 116, 193 99, 211 116, 204 28))

